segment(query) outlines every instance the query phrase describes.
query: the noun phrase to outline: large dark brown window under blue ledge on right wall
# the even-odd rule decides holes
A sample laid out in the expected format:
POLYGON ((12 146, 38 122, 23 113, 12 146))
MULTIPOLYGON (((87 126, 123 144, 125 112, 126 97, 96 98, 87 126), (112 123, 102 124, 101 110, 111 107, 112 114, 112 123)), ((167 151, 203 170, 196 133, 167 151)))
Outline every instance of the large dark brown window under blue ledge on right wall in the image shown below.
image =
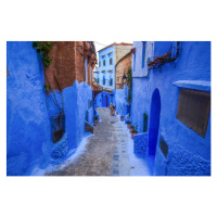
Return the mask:
POLYGON ((210 93, 192 89, 180 89, 177 118, 203 138, 210 112, 210 93))

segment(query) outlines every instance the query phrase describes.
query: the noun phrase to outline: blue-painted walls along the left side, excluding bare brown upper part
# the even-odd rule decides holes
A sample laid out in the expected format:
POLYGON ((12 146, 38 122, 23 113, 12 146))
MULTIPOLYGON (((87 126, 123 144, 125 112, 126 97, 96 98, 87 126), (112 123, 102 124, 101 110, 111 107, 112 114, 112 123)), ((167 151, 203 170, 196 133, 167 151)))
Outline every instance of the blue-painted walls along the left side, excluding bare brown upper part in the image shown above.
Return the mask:
POLYGON ((92 89, 76 80, 62 92, 48 94, 42 58, 30 41, 7 43, 7 174, 30 175, 76 151, 87 133, 85 123, 93 124, 92 89), (58 122, 64 135, 53 142, 58 122))

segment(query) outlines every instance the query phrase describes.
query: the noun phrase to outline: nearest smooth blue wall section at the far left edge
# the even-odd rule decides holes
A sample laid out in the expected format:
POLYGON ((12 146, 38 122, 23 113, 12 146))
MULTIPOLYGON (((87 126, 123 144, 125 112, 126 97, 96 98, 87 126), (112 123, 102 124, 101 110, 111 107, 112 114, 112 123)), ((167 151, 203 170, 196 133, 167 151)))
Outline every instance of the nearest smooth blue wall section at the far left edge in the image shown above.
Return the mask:
POLYGON ((33 42, 8 42, 7 65, 7 174, 16 176, 48 164, 51 126, 42 60, 33 42))

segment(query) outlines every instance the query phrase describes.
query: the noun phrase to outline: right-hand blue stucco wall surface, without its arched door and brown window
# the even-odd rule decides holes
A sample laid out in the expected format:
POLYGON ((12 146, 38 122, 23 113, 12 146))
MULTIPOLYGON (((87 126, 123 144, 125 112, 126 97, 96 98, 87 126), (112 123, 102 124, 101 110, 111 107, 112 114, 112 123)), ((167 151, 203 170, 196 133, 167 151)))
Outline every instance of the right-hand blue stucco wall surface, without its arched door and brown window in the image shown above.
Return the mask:
MULTIPOLYGON (((146 46, 149 43, 151 42, 148 41, 146 46)), ((154 56, 168 52, 170 43, 156 42, 154 56)), ((137 53, 140 52, 141 42, 135 42, 133 47, 138 47, 137 53)), ((150 130, 151 101, 153 92, 157 89, 161 114, 153 174, 158 176, 210 175, 210 115, 205 138, 177 119, 179 88, 173 85, 178 80, 210 81, 210 42, 183 41, 180 48, 180 55, 173 64, 167 63, 161 68, 150 69, 148 77, 145 72, 142 74, 141 60, 136 59, 136 72, 132 72, 135 78, 132 78, 131 120, 139 125, 139 132, 142 132, 142 115, 146 113, 148 130, 150 130), (137 71, 140 71, 140 76, 144 77, 138 78, 137 71), (159 149, 159 137, 168 145, 167 158, 159 149)), ((150 53, 146 53, 146 56, 149 55, 150 53)))

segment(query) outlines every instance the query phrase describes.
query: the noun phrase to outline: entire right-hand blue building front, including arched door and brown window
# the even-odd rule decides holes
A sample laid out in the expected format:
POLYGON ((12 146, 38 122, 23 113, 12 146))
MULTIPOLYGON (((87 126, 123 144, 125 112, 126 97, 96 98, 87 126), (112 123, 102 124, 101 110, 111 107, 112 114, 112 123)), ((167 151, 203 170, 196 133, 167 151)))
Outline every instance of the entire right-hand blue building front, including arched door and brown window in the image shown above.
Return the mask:
POLYGON ((210 42, 136 41, 135 153, 156 176, 210 175, 210 42))

